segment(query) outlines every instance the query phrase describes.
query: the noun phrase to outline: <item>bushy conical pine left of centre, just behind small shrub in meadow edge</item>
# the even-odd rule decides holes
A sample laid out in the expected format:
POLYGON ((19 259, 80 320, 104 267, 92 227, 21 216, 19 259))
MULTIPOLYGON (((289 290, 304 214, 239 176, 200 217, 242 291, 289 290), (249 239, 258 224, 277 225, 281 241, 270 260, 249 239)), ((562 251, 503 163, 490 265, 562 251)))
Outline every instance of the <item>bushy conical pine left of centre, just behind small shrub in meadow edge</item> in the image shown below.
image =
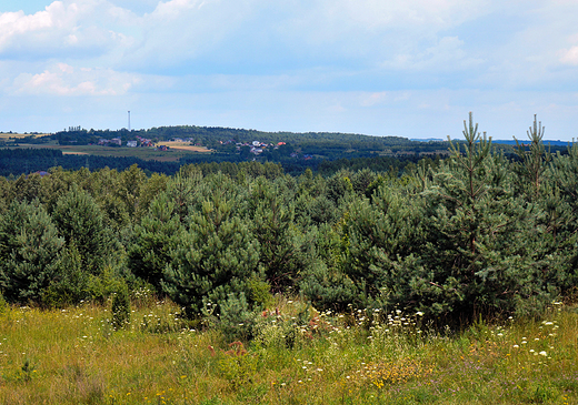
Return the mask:
POLYGON ((163 271, 163 291, 191 317, 207 303, 218 308, 229 294, 250 297, 249 280, 263 277, 258 271, 259 243, 233 214, 237 201, 227 194, 215 188, 201 210, 189 215, 189 229, 163 271))

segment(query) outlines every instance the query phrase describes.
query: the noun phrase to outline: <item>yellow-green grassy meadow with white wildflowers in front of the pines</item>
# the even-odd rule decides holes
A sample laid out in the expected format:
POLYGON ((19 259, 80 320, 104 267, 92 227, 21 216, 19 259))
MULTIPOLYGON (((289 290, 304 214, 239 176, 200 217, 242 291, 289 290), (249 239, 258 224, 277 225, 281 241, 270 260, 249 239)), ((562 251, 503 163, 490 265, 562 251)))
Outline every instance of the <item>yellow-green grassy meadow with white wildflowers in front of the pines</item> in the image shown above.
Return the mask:
POLYGON ((419 315, 369 325, 371 314, 319 314, 279 298, 245 345, 186 325, 169 302, 133 301, 132 311, 113 331, 110 305, 6 308, 0 403, 578 403, 578 313, 561 304, 540 321, 448 335, 419 315))

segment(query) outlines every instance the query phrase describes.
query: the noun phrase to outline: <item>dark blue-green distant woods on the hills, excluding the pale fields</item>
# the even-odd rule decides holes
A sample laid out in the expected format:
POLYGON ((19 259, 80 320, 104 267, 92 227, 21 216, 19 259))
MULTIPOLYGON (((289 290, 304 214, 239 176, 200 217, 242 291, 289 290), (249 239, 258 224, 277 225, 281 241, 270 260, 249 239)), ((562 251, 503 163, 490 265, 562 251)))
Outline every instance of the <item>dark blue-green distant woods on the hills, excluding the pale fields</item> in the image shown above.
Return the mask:
MULTIPOLYGON (((122 144, 136 140, 137 136, 150 139, 153 142, 169 140, 186 140, 191 144, 207 146, 211 153, 193 153, 185 155, 178 162, 146 161, 138 158, 111 158, 97 155, 62 155, 60 152, 38 152, 33 150, 13 153, 1 152, 0 175, 19 175, 46 171, 49 168, 61 166, 67 170, 89 168, 99 170, 110 168, 124 170, 138 164, 147 174, 163 173, 172 175, 185 164, 240 163, 257 161, 260 163, 279 163, 285 173, 300 175, 307 169, 313 173, 330 175, 339 169, 375 171, 391 171, 402 174, 406 166, 415 165, 420 159, 447 158, 449 142, 411 141, 400 136, 369 136, 362 134, 329 133, 329 132, 263 132, 245 129, 208 128, 196 125, 159 126, 148 130, 118 131, 84 130, 71 126, 51 135, 27 136, 22 143, 47 143, 57 141, 61 145, 97 144, 101 139, 118 138, 122 144), (259 141, 268 146, 259 153, 251 153, 251 143, 259 141), (275 146, 272 146, 275 145, 275 146), (7 159, 4 159, 7 158, 7 159)), ((462 141, 460 141, 462 142, 462 141)), ((518 159, 514 153, 512 143, 499 141, 496 150, 501 150, 508 159, 518 159), (501 143, 505 142, 505 143, 501 143)), ((124 146, 123 146, 124 148, 124 146)), ((566 145, 555 144, 552 153, 566 153, 566 145)))

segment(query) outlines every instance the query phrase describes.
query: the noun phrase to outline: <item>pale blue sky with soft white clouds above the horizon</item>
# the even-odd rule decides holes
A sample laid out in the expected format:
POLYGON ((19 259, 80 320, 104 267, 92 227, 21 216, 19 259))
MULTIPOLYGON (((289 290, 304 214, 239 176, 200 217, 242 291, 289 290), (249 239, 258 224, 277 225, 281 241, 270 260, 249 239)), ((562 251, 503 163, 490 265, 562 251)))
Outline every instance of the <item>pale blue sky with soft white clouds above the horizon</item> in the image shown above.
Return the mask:
POLYGON ((0 131, 578 139, 577 0, 2 0, 0 131))

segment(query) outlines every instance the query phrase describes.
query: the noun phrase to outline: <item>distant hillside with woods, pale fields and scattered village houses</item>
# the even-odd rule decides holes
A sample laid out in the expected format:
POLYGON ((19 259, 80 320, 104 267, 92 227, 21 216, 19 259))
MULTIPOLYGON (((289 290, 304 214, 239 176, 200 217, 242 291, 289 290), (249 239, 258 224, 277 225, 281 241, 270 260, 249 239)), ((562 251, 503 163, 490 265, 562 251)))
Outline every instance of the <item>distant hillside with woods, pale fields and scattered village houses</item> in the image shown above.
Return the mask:
POLYGON ((226 128, 162 126, 141 131, 94 131, 79 126, 48 135, 0 136, 0 175, 48 171, 52 166, 124 170, 175 174, 183 164, 211 162, 280 163, 286 173, 306 169, 327 174, 353 165, 400 171, 420 156, 446 155, 447 142, 412 142, 396 136, 343 133, 261 132, 226 128), (114 140, 114 142, 112 142, 114 140), (137 148, 129 148, 128 142, 137 148), (255 146, 253 142, 259 145, 255 146), (169 146, 168 150, 155 148, 169 146), (368 162, 368 160, 370 162, 368 162), (333 161, 339 161, 333 165, 333 161))

